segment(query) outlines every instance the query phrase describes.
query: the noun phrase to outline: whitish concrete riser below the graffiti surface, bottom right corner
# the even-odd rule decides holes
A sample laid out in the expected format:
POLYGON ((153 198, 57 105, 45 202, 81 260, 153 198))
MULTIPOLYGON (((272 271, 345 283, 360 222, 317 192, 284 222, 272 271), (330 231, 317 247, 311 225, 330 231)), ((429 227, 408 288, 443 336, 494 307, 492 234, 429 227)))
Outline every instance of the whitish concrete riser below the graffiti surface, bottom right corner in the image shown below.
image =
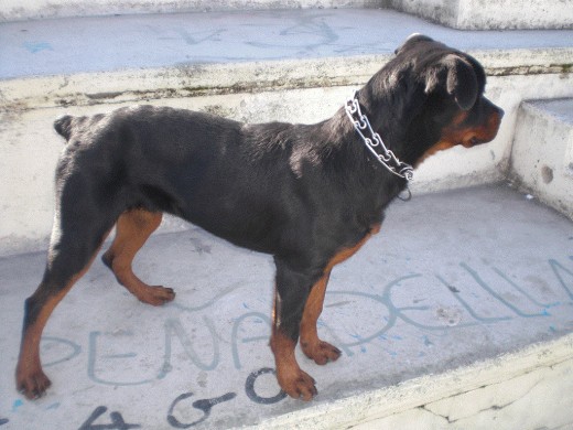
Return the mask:
POLYGON ((569 429, 573 338, 300 410, 258 429, 569 429))

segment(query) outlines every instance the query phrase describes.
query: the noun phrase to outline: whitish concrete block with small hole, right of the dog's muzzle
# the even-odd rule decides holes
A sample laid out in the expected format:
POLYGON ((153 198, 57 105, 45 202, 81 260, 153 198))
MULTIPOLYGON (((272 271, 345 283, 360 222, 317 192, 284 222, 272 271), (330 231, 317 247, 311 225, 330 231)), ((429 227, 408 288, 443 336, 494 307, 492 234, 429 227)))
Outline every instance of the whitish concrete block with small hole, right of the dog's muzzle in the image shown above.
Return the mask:
POLYGON ((510 165, 517 184, 573 218, 573 99, 523 101, 510 165))

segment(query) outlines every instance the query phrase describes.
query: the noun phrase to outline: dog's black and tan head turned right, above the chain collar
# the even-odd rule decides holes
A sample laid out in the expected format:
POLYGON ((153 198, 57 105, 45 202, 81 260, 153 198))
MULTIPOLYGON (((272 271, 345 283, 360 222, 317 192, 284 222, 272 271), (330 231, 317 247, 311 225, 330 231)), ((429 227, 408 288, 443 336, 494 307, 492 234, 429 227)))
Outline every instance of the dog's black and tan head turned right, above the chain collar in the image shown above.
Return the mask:
MULTIPOLYGON (((484 68, 474 57, 414 34, 367 87, 370 111, 388 117, 385 109, 396 109, 391 120, 406 130, 404 136, 390 132, 392 146, 401 147, 404 160, 419 164, 439 150, 471 148, 496 137, 504 111, 484 97, 485 85, 484 68), (376 99, 385 106, 377 108, 376 99)), ((396 130, 388 120, 379 123, 396 130)))

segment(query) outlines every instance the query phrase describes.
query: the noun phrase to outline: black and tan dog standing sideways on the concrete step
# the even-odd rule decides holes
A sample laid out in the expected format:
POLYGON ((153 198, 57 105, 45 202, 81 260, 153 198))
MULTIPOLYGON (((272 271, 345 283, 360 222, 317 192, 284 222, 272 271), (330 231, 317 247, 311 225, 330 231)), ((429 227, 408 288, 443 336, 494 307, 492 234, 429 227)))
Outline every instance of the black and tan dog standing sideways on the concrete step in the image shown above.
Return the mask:
POLYGON ((316 333, 331 270, 379 230, 386 206, 407 186, 398 168, 494 139, 502 111, 484 87, 484 69, 472 56, 410 36, 356 93, 372 131, 399 160, 396 172, 367 148, 346 107, 316 125, 245 125, 151 106, 60 118, 55 128, 67 146, 57 164, 45 273, 25 301, 18 389, 34 398, 50 386, 40 363, 43 327, 115 225, 104 262, 118 281, 145 303, 174 299, 173 290, 150 287, 131 270, 170 213, 274 257, 277 378, 290 396, 310 400, 315 381, 294 348, 300 337, 304 354, 321 365, 340 355, 316 333))

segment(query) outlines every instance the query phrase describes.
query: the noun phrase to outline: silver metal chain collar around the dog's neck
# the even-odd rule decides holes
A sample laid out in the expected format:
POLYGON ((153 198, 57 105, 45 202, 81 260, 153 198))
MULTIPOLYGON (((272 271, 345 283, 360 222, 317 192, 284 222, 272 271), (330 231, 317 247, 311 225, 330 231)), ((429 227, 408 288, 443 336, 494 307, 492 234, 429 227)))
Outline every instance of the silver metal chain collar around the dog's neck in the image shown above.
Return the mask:
POLYGON ((346 115, 348 115, 348 118, 353 121, 354 128, 364 140, 366 148, 368 148, 380 164, 382 164, 388 171, 399 178, 411 181, 413 179, 413 168, 410 164, 398 160, 393 152, 386 148, 380 135, 372 130, 368 117, 360 111, 360 105, 356 95, 357 92, 354 92, 353 96, 348 98, 345 109, 346 115), (368 137, 365 136, 365 132, 363 132, 364 130, 369 135, 368 137))

